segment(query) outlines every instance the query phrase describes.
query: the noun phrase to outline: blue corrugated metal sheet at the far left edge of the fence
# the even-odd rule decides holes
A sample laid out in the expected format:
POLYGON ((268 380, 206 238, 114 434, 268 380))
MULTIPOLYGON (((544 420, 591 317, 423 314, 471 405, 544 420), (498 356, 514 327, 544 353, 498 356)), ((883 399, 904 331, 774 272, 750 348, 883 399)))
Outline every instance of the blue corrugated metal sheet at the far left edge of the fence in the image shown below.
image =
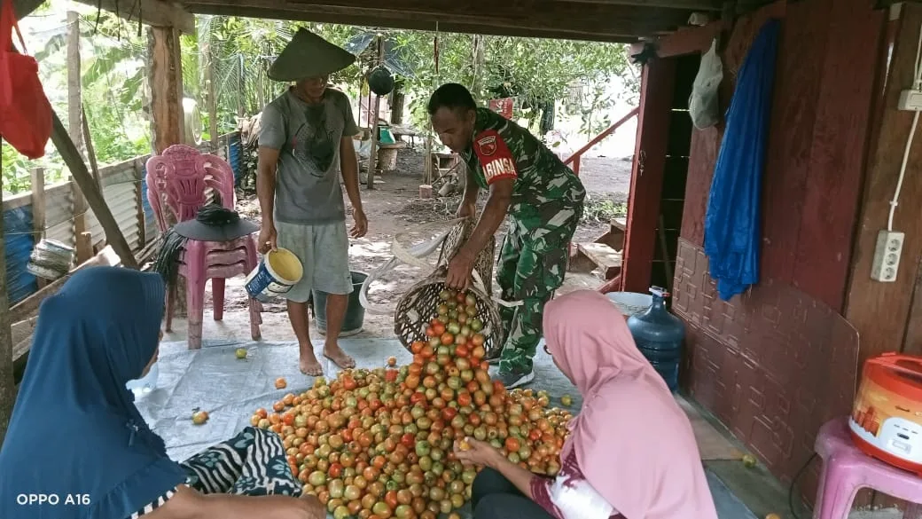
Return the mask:
POLYGON ((10 305, 38 290, 35 276, 26 270, 35 240, 32 236, 32 206, 4 211, 6 282, 10 305))

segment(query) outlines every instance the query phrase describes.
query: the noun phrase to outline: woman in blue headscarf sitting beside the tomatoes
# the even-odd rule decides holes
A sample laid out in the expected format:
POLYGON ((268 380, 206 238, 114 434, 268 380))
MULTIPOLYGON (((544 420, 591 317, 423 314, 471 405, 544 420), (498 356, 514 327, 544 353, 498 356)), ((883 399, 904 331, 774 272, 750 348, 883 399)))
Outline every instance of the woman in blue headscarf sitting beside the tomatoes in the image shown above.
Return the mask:
POLYGON ((96 267, 42 303, 0 450, 0 517, 324 519, 293 497, 276 434, 246 428, 182 465, 167 456, 125 388, 157 356, 163 297, 159 274, 96 267))

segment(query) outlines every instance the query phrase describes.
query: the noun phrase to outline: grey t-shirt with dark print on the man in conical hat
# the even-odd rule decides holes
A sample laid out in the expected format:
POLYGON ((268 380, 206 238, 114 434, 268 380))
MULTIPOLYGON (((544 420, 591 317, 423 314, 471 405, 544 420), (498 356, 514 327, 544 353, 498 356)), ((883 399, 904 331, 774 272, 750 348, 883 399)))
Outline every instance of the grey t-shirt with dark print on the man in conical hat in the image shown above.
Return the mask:
POLYGON ((345 93, 326 89, 321 103, 301 101, 291 89, 268 103, 259 146, 278 150, 275 218, 285 223, 346 219, 339 186, 339 142, 359 133, 345 93))

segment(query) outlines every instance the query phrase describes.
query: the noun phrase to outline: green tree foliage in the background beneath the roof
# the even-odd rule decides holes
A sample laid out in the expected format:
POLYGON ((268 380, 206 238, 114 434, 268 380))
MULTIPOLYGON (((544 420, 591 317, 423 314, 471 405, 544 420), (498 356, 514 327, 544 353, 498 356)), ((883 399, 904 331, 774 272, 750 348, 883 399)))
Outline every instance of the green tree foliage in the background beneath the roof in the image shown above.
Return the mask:
MULTIPOLYGON (((47 4, 41 14, 62 17, 66 9, 81 15, 82 91, 92 142, 100 164, 115 163, 150 151, 150 123, 146 115, 146 53, 148 35, 136 23, 127 23, 107 11, 86 6, 47 4)), ((555 101, 567 101, 564 111, 581 115, 586 134, 596 133, 608 118, 610 105, 598 86, 621 76, 631 82, 624 46, 612 43, 572 42, 528 38, 478 36, 415 30, 384 30, 336 24, 319 24, 237 17, 198 17, 196 34, 183 35, 183 88, 199 103, 207 119, 207 58, 213 61, 218 101, 219 133, 237 128, 237 116, 254 115, 276 97, 284 85, 266 77, 266 69, 290 41, 298 27, 306 27, 326 40, 345 46, 360 35, 381 34, 392 42, 393 52, 412 71, 397 78, 407 94, 411 122, 426 127, 425 102, 431 91, 446 82, 467 85, 480 103, 498 97, 515 97, 516 107, 531 121, 542 108, 555 101), (435 39, 438 39, 436 70, 435 39), (207 51, 207 55, 203 52, 207 51), (574 102, 573 88, 590 93, 574 102), (599 113, 602 114, 599 114, 599 113)), ((364 75, 376 65, 373 38, 361 52, 357 64, 332 80, 346 89, 352 99, 367 95, 364 75)), ((35 45, 33 45, 35 46, 35 45)), ((66 30, 56 30, 34 52, 41 64, 41 79, 55 110, 66 120, 66 30)), ((630 92, 629 92, 630 93, 630 92)), ((203 121, 209 139, 207 120, 203 121)), ((63 163, 49 147, 40 161, 24 160, 8 145, 3 146, 3 180, 6 192, 28 189, 29 168, 46 168, 48 181, 59 179, 63 163)))

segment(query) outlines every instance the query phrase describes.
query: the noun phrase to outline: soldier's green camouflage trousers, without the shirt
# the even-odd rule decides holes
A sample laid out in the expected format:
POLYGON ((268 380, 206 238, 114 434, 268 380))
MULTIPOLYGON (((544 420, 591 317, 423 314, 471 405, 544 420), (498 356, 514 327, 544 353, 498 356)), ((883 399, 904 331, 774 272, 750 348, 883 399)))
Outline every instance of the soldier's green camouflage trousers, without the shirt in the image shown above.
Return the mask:
POLYGON ((536 228, 510 218, 502 242, 496 281, 505 301, 522 301, 500 307, 505 342, 501 373, 527 373, 543 336, 544 305, 563 284, 567 270, 567 243, 583 215, 582 206, 557 211, 536 228))

